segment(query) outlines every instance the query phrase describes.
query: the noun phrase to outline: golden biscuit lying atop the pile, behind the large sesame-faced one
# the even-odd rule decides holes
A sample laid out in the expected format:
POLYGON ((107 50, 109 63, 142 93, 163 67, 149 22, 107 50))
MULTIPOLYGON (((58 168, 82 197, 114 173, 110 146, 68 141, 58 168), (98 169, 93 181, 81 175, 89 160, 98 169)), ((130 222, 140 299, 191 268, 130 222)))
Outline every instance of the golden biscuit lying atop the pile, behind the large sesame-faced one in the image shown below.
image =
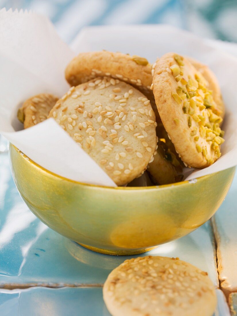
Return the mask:
POLYGON ((80 53, 67 66, 65 78, 71 86, 98 76, 110 76, 125 81, 143 93, 151 93, 151 64, 146 58, 120 52, 80 53))

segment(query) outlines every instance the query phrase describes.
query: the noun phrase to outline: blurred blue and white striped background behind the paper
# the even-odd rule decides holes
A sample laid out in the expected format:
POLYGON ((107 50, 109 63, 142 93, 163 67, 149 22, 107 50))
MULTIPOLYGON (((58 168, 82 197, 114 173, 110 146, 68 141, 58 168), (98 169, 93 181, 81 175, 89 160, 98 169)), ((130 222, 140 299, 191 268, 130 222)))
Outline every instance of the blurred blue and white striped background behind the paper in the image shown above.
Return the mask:
POLYGON ((47 15, 68 43, 88 25, 156 23, 237 42, 236 0, 0 0, 4 6, 47 15))

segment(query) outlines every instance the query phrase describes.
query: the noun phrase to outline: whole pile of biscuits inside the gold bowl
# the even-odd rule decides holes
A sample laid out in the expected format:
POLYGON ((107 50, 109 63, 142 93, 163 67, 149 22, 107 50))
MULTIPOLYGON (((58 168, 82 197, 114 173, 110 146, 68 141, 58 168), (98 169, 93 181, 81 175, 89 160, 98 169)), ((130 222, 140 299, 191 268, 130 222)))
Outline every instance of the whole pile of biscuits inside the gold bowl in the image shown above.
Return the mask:
POLYGON ((107 51, 81 53, 65 70, 61 99, 24 102, 24 128, 53 118, 117 185, 149 172, 154 184, 183 179, 221 156, 224 103, 215 75, 188 57, 147 59, 107 51))

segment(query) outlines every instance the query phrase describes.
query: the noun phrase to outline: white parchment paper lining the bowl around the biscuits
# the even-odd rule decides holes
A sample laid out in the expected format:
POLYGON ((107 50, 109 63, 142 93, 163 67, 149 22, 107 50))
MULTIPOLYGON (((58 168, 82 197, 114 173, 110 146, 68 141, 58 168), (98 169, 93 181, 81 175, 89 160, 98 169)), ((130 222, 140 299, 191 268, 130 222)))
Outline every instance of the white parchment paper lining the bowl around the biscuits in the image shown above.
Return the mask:
POLYGON ((140 55, 155 62, 166 52, 189 55, 208 64, 221 85, 227 113, 222 156, 212 166, 190 170, 186 179, 237 165, 237 58, 216 48, 213 41, 164 25, 105 26, 84 29, 69 48, 46 17, 0 10, 0 133, 33 161, 76 181, 115 186, 112 179, 49 119, 19 131, 16 113, 34 94, 61 97, 69 88, 67 63, 79 52, 106 49, 140 55))

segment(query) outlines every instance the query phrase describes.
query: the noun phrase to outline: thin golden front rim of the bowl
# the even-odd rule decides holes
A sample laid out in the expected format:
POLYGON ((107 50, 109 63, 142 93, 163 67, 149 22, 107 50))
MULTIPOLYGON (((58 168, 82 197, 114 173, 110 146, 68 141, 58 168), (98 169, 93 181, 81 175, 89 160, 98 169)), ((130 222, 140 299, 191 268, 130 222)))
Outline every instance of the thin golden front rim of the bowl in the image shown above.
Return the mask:
MULTIPOLYGON (((68 179, 65 178, 63 176, 60 176, 57 173, 53 173, 50 170, 40 166, 38 163, 36 163, 35 161, 33 161, 32 159, 30 159, 27 155, 25 155, 20 149, 18 149, 15 145, 13 145, 12 143, 9 143, 9 147, 12 147, 15 151, 18 152, 19 155, 21 155, 22 158, 24 158, 25 161, 27 161, 28 163, 34 165, 36 168, 41 169, 43 172, 45 173, 49 173, 50 175, 65 180, 65 181, 69 181, 72 183, 76 183, 79 185, 85 185, 85 186, 89 186, 89 187, 95 187, 95 188, 103 188, 103 189, 110 189, 110 190, 151 190, 151 189, 165 189, 165 188, 169 188, 169 187, 174 187, 174 186, 181 186, 181 185, 187 185, 187 184, 195 184, 197 183, 197 181, 200 181, 201 179, 206 179, 209 178, 210 176, 212 176, 215 173, 210 173, 210 174, 206 174, 204 176, 192 179, 192 180, 185 180, 185 181, 179 181, 179 182, 175 182, 175 183, 170 183, 170 184, 163 184, 163 185, 149 185, 149 186, 106 186, 106 185, 96 185, 96 184, 90 184, 90 183, 84 183, 84 182, 80 182, 80 181, 76 181, 76 180, 72 180, 72 179, 68 179)), ((8 151, 9 155, 10 155, 10 150, 8 151)), ((10 158, 9 158, 10 159, 10 158)), ((11 159, 10 159, 11 160, 11 159)), ((226 170, 226 169, 225 169, 226 170)), ((216 172, 218 173, 218 172, 216 172)))

